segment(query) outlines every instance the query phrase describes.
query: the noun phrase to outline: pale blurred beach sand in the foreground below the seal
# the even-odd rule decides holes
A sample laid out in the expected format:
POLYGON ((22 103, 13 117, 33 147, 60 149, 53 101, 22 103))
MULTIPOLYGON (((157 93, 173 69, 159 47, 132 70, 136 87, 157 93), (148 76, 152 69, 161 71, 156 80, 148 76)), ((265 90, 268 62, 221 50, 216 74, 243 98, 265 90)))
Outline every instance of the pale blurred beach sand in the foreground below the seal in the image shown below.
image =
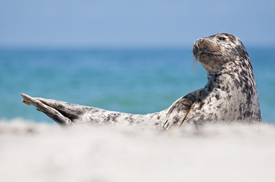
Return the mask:
POLYGON ((275 126, 0 121, 0 181, 275 181, 275 126))

